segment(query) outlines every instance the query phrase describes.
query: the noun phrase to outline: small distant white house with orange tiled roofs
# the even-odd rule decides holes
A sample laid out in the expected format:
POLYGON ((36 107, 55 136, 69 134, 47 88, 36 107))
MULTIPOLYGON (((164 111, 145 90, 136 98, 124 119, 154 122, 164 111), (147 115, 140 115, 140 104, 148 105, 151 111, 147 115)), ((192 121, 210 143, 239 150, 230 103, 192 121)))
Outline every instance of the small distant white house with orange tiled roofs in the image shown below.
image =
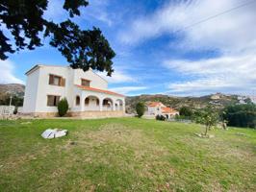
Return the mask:
POLYGON ((167 108, 161 102, 149 102, 146 105, 147 115, 164 115, 167 119, 170 117, 179 114, 179 112, 173 108, 167 108))

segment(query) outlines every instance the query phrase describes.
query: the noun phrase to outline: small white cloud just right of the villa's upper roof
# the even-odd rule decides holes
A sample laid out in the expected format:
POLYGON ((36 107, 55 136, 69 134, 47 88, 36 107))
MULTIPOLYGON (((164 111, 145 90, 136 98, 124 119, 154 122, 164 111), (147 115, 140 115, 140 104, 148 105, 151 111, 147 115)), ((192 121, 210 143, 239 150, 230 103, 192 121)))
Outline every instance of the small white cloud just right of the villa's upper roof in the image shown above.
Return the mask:
POLYGON ((136 79, 128 75, 120 69, 115 69, 115 72, 112 74, 112 77, 107 76, 106 73, 97 72, 98 75, 106 79, 111 84, 120 84, 120 83, 134 83, 136 79))

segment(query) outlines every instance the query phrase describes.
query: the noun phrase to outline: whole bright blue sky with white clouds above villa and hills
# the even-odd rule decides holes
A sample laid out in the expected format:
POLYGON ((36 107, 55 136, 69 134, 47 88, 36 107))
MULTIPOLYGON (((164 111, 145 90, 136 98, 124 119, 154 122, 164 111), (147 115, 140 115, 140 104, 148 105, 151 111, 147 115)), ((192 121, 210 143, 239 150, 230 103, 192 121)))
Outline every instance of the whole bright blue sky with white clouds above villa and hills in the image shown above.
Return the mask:
MULTIPOLYGON (((51 1, 44 16, 64 20, 67 14, 59 9, 60 2, 51 1)), ((99 27, 110 41, 116 53, 115 73, 106 78, 114 91, 254 94, 255 10, 256 2, 245 0, 90 0, 74 20, 83 29, 99 27)), ((0 60, 0 83, 25 84, 24 73, 36 63, 67 65, 45 39, 43 47, 0 60)))

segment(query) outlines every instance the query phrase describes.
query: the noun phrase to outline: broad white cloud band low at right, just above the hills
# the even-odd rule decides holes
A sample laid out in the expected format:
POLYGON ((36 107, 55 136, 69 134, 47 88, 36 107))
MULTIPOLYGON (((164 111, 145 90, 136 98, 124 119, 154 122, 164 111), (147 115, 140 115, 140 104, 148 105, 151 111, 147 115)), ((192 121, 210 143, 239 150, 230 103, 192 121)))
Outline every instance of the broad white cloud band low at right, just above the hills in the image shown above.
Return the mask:
POLYGON ((165 66, 192 81, 170 83, 170 93, 202 95, 213 92, 252 93, 256 84, 256 57, 220 57, 210 60, 167 60, 165 66))

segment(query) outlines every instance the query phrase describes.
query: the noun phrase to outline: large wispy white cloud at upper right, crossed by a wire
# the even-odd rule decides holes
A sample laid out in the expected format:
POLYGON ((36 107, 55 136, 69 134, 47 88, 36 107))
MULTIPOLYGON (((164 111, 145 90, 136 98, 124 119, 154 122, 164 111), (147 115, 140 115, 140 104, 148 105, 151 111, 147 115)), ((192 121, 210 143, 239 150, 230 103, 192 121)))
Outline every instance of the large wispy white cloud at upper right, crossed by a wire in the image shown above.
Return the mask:
POLYGON ((246 2, 240 0, 170 2, 152 14, 138 16, 119 34, 119 39, 128 44, 136 44, 164 34, 183 34, 184 39, 180 46, 186 49, 219 48, 229 52, 254 47, 255 50, 256 2, 192 26, 198 21, 243 3, 246 2), (188 26, 192 27, 188 28, 188 26), (179 33, 176 34, 177 31, 179 33))

